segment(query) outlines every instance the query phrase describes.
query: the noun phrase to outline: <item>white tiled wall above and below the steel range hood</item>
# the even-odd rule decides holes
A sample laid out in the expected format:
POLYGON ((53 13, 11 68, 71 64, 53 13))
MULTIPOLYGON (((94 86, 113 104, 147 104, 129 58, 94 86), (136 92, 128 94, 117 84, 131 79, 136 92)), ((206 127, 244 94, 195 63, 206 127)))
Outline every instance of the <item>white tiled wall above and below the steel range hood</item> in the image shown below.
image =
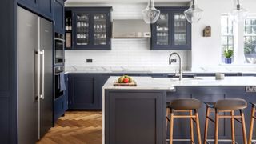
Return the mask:
MULTIPOLYGON (((76 3, 66 6, 89 5, 76 3)), ((141 11, 146 8, 146 4, 92 6, 113 6, 112 19, 142 19, 141 11)), ((111 47, 112 50, 66 50, 66 66, 169 66, 169 55, 174 52, 150 50, 150 39, 112 39, 111 47), (92 58, 94 62, 86 63, 87 58, 92 58)), ((178 53, 182 54, 183 67, 190 68, 190 50, 178 50, 178 53)))

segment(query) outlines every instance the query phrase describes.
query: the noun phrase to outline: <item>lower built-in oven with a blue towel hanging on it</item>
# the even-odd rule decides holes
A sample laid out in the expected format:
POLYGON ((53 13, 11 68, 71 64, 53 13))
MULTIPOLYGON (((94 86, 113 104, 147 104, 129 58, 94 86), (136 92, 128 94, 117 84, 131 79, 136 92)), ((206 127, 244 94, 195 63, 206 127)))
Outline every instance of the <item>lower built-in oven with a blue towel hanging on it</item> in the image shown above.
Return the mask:
POLYGON ((54 99, 62 97, 65 90, 64 66, 54 67, 54 99))

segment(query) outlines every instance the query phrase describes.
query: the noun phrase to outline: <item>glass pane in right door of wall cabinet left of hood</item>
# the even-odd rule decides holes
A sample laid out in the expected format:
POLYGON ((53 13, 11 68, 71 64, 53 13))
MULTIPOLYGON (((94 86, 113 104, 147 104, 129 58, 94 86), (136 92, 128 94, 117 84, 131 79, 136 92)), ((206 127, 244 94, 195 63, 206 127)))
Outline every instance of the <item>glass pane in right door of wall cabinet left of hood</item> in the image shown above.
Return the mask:
POLYGON ((94 14, 94 45, 106 45, 106 14, 94 14))

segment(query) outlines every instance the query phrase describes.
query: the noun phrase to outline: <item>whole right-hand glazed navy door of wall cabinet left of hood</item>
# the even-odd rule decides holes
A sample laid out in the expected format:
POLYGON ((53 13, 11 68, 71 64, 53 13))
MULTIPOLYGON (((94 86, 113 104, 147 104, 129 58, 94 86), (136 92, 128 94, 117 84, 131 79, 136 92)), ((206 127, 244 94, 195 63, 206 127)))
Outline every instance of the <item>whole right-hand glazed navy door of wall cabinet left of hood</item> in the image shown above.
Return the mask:
POLYGON ((93 14, 93 48, 110 49, 110 13, 93 14))

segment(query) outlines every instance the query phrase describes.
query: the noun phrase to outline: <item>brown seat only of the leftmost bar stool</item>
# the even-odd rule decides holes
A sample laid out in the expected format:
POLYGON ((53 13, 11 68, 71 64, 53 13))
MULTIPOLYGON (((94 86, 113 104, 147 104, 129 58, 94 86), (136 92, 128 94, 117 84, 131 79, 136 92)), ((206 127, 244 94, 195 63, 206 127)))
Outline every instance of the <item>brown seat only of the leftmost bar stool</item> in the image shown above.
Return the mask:
POLYGON ((173 110, 195 110, 202 106, 202 102, 194 98, 174 99, 167 104, 167 107, 173 110))

